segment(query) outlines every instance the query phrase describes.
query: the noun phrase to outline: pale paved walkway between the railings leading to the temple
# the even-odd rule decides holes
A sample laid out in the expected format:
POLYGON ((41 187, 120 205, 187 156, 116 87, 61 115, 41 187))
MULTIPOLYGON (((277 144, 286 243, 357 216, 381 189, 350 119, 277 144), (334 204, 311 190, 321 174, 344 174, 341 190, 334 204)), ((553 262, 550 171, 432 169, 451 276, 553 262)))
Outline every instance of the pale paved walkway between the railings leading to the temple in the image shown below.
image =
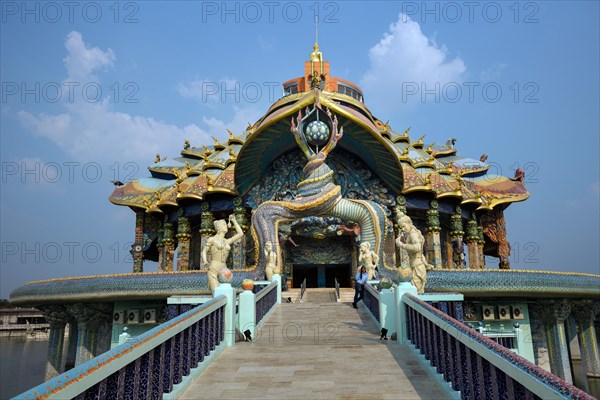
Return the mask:
POLYGON ((224 350, 181 398, 449 398, 412 350, 378 332, 361 303, 281 304, 261 336, 224 350))

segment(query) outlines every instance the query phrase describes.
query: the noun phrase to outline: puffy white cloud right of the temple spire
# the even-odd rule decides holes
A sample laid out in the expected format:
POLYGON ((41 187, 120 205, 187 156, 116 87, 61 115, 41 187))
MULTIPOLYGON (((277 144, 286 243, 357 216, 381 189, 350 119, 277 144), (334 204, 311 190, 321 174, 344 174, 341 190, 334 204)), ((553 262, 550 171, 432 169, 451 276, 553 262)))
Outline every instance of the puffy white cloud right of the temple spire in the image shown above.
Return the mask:
MULTIPOLYGON (((369 59, 370 66, 361 85, 369 98, 381 106, 401 101, 406 83, 414 83, 418 88, 425 85, 427 89, 436 84, 443 87, 450 82, 462 82, 466 71, 462 59, 449 60, 447 48, 425 36, 419 24, 404 14, 371 47, 369 59)), ((413 97, 421 99, 420 95, 413 97)))

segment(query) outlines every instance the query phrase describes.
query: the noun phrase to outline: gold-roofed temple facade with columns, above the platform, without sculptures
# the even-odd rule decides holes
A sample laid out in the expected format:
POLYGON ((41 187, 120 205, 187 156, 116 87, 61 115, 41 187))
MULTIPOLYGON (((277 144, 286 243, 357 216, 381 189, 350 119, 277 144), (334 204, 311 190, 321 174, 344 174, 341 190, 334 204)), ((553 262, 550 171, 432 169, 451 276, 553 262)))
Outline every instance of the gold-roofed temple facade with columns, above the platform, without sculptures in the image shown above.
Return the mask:
MULTIPOLYGON (((201 250, 215 233, 217 219, 234 214, 245 237, 234 246, 228 266, 262 279, 264 266, 250 227, 253 213, 268 201, 290 201, 306 158, 291 132, 293 118, 322 106, 339 121, 344 136, 327 158, 343 198, 372 201, 384 210, 382 264, 393 275, 403 256, 394 247, 401 234, 398 211, 411 217, 426 238, 434 268, 485 266, 484 256, 509 269, 510 246, 504 210, 527 199, 523 175, 514 179, 490 172, 480 160, 458 155, 456 139, 436 144, 425 135, 399 131, 374 116, 356 84, 330 75, 318 46, 304 75, 283 84, 284 96, 244 132, 213 137, 211 145, 183 144, 179 157, 149 166, 151 176, 115 188, 110 201, 136 213, 134 272, 144 260, 158 271, 204 269, 201 250)), ((339 216, 309 215, 278 226, 279 262, 293 286, 344 286, 357 258, 361 227, 339 216)), ((494 266, 495 267, 495 266, 494 266)))

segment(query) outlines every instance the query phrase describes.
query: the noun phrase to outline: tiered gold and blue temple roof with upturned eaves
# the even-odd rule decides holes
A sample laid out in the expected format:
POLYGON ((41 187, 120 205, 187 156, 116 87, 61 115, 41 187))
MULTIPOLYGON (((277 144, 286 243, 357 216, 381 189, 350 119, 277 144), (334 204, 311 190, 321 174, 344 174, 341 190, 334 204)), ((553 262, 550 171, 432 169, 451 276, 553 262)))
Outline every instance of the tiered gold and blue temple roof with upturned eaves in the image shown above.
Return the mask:
MULTIPOLYGON (((117 205, 162 213, 185 199, 205 200, 213 194, 243 196, 277 157, 296 147, 290 122, 315 102, 344 127, 338 146, 360 157, 396 193, 428 192, 435 198, 454 197, 462 204, 491 210, 499 204, 523 201, 529 192, 521 180, 489 173, 489 165, 458 155, 456 139, 427 143, 425 135, 409 136, 383 123, 364 103, 342 93, 313 88, 277 100, 267 113, 227 141, 212 145, 184 144, 181 157, 149 166, 151 178, 115 188, 117 205)), ((483 158, 482 158, 483 160, 483 158)))

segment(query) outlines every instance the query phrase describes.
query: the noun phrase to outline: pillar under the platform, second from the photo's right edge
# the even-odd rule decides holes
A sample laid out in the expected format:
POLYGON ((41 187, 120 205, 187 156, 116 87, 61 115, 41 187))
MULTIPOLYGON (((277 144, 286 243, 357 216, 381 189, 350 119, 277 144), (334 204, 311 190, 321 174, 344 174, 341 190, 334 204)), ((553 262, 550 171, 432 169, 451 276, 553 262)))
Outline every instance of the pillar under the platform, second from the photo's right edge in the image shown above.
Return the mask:
POLYGON ((546 325, 550 369, 554 375, 573 383, 564 324, 571 314, 572 304, 567 301, 548 301, 541 306, 543 306, 542 316, 546 325))

